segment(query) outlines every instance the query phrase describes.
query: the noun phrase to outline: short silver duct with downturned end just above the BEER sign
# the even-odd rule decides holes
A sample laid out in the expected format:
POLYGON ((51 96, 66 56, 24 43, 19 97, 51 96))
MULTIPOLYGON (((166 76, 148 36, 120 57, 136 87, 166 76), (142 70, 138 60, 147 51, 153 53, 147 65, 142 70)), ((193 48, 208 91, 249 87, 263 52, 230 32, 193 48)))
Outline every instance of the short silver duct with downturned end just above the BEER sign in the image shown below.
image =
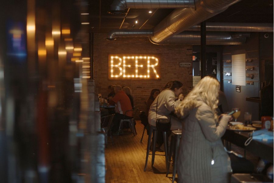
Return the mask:
POLYGON ((151 37, 153 30, 150 29, 117 29, 111 30, 107 34, 106 40, 115 40, 115 37, 151 37))

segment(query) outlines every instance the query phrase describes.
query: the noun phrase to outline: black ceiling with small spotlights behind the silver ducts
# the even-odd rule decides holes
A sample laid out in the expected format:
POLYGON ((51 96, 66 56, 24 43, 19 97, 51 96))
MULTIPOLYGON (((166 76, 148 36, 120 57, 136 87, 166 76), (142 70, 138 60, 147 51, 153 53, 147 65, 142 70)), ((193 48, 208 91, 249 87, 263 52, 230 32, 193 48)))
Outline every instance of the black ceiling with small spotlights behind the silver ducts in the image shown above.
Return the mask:
MULTIPOLYGON (((93 32, 108 32, 119 29, 125 15, 107 12, 113 0, 90 0, 90 27, 93 32)), ((121 29, 152 29, 173 9, 129 9, 121 29), (151 10, 153 13, 149 13, 151 10), (156 12, 155 12, 156 11, 156 12), (135 24, 135 20, 138 23, 135 24)), ((242 0, 208 22, 273 23, 273 0, 242 0)))

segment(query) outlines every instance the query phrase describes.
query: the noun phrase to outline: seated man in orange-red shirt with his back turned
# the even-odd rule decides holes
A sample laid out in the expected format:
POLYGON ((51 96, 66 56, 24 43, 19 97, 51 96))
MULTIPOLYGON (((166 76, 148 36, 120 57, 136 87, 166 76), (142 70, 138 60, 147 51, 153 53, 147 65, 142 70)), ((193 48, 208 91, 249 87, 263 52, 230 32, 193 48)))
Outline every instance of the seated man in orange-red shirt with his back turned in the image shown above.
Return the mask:
POLYGON ((113 127, 111 128, 112 132, 117 132, 120 126, 120 120, 122 119, 132 119, 133 112, 130 99, 122 90, 120 85, 114 87, 115 96, 109 98, 109 104, 115 104, 115 115, 113 118, 113 127), (128 111, 131 110, 131 111, 128 111), (126 113, 126 111, 128 111, 126 113))

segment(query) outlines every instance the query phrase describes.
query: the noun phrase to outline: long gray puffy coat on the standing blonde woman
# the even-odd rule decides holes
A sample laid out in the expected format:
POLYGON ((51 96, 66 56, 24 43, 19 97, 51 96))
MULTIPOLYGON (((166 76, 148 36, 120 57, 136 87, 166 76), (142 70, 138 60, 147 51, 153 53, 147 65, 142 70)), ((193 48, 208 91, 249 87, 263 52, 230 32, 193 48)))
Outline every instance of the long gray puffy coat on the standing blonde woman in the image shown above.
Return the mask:
POLYGON ((228 122, 220 120, 218 124, 213 110, 203 102, 182 118, 183 129, 177 164, 179 182, 229 182, 230 158, 221 142, 228 122))

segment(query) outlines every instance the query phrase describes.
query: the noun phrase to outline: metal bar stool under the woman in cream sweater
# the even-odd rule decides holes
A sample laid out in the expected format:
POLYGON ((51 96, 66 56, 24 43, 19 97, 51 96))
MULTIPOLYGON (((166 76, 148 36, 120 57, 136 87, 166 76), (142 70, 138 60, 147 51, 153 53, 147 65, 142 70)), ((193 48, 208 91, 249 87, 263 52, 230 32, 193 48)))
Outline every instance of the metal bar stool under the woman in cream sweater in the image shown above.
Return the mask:
MULTIPOLYGON (((155 160, 155 151, 156 151, 156 141, 157 141, 157 134, 158 130, 155 126, 149 125, 149 136, 147 140, 147 149, 146 149, 146 163, 145 163, 145 168, 144 171, 146 171, 147 167, 147 161, 148 161, 148 156, 149 156, 149 148, 151 144, 151 137, 153 134, 153 146, 152 146, 152 160, 151 160, 151 166, 153 167, 154 160, 155 160)), ((168 145, 167 145, 167 131, 163 131, 163 140, 164 140, 164 147, 165 147, 165 157, 166 157, 166 168, 167 168, 167 161, 168 161, 168 145)))

